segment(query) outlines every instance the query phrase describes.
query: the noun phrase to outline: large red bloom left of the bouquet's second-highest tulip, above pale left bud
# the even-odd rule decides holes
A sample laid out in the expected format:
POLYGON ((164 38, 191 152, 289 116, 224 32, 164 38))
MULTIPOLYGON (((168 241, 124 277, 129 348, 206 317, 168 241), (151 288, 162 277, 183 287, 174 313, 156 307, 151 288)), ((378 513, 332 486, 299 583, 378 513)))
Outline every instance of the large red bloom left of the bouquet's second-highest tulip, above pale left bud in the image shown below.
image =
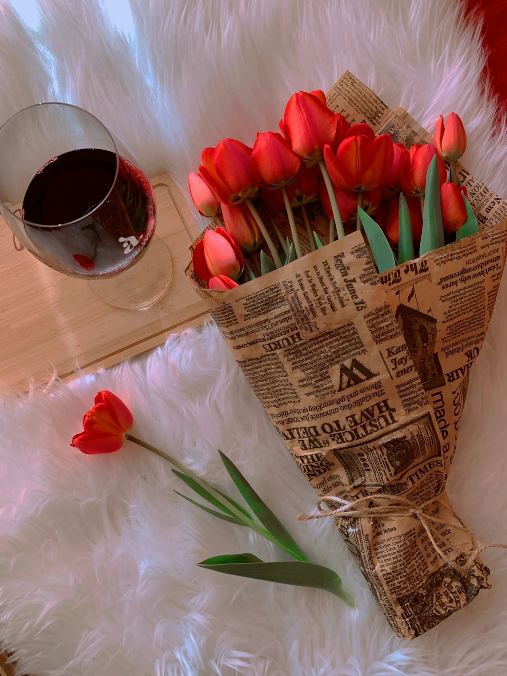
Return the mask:
POLYGON ((222 201, 236 204, 258 192, 261 178, 251 164, 251 150, 241 141, 224 139, 202 151, 201 160, 216 180, 222 201))

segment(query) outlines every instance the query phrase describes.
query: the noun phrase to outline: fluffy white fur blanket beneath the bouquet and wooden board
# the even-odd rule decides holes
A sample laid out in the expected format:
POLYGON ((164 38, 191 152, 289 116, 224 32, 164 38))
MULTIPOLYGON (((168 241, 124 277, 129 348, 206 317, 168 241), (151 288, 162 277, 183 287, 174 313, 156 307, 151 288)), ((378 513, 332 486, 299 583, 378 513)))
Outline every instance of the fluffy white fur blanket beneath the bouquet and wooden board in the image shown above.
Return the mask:
MULTIPOLYGON (((433 130, 458 112, 464 164, 507 194, 505 130, 481 82, 480 34, 450 0, 0 0, 0 122, 39 100, 85 107, 151 174, 186 190, 201 148, 276 130, 299 89, 344 70, 433 130), (17 10, 17 11, 16 11, 17 10)), ((0 149, 1 153, 1 149, 0 149)), ((507 283, 470 375, 449 493, 483 541, 507 541, 507 283)), ((393 635, 333 523, 297 523, 315 496, 214 327, 132 363, 4 397, 0 418, 0 642, 35 676, 500 676, 507 556, 493 589, 427 635, 393 635), (84 456, 69 441, 99 389, 133 433, 231 490, 221 448, 356 597, 201 571, 215 554, 280 556, 184 504, 163 460, 126 443, 84 456)))

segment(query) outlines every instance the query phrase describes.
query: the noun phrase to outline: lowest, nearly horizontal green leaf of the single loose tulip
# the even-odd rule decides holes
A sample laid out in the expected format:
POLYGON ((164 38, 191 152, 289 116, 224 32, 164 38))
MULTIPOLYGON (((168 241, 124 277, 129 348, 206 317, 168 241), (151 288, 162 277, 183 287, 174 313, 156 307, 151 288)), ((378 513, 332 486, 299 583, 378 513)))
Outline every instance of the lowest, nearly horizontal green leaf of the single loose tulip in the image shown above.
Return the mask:
POLYGON ((266 562, 254 554, 224 554, 207 558, 197 566, 217 573, 278 582, 283 585, 324 589, 341 598, 352 608, 354 607, 354 601, 343 590, 338 575, 331 569, 318 566, 310 561, 266 562))

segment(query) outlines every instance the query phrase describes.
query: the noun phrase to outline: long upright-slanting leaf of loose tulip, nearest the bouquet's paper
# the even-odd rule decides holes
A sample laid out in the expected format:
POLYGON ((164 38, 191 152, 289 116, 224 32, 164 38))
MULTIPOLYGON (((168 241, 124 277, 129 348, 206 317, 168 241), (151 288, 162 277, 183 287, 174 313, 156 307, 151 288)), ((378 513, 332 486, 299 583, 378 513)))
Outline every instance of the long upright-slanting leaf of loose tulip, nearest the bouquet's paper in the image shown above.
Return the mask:
POLYGON ((231 479, 233 479, 239 492, 243 498, 245 498, 245 502, 249 508, 251 508, 252 512, 254 512, 254 514, 257 516, 260 523, 262 523, 262 525, 264 525, 269 531, 270 535, 274 537, 276 543, 288 554, 293 556, 293 558, 296 558, 299 561, 308 561, 308 557, 306 554, 304 554, 301 548, 299 548, 299 545, 297 542, 295 542, 289 531, 285 529, 283 524, 278 518, 276 518, 270 508, 268 508, 268 506, 262 502, 256 491, 254 491, 251 485, 249 485, 248 481, 245 479, 245 477, 243 477, 237 466, 235 466, 232 460, 229 460, 229 458, 224 453, 222 453, 222 451, 218 452, 220 453, 220 458, 222 458, 222 462, 224 463, 224 466, 231 479))

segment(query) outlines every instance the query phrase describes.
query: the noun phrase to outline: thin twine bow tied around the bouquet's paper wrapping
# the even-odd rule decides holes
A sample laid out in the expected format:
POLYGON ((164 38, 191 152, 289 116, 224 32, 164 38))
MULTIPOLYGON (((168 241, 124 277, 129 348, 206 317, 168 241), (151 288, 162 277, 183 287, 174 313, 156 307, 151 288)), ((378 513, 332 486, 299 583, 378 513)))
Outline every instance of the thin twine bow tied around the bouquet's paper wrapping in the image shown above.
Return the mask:
POLYGON ((344 500, 343 498, 337 498, 334 496, 328 496, 327 498, 320 498, 317 502, 318 514, 298 514, 297 518, 299 521, 309 521, 312 518, 326 518, 327 516, 335 516, 337 518, 383 518, 388 516, 416 516, 420 521, 420 525, 425 529, 429 541, 435 548, 435 552, 452 568, 456 571, 468 571, 473 564, 475 559, 479 554, 489 547, 498 547, 502 549, 507 549, 507 544, 482 544, 481 541, 462 523, 448 523, 439 518, 439 516, 434 516, 427 512, 427 508, 432 504, 435 504, 439 496, 431 498, 423 502, 423 504, 416 504, 404 496, 391 496, 389 494, 382 496, 366 496, 364 498, 357 498, 357 500, 344 500), (372 500, 384 500, 385 504, 370 506, 372 500), (331 510, 324 509, 322 504, 329 504, 331 510), (338 505, 338 506, 336 506, 338 505), (458 564, 456 559, 450 558, 448 554, 445 553, 443 547, 446 549, 449 547, 447 542, 443 544, 438 544, 435 540, 435 535, 433 535, 431 526, 435 525, 446 525, 451 528, 458 528, 462 530, 468 537, 470 537, 470 542, 472 545, 471 550, 456 550, 458 554, 468 554, 468 560, 464 564, 458 564))

